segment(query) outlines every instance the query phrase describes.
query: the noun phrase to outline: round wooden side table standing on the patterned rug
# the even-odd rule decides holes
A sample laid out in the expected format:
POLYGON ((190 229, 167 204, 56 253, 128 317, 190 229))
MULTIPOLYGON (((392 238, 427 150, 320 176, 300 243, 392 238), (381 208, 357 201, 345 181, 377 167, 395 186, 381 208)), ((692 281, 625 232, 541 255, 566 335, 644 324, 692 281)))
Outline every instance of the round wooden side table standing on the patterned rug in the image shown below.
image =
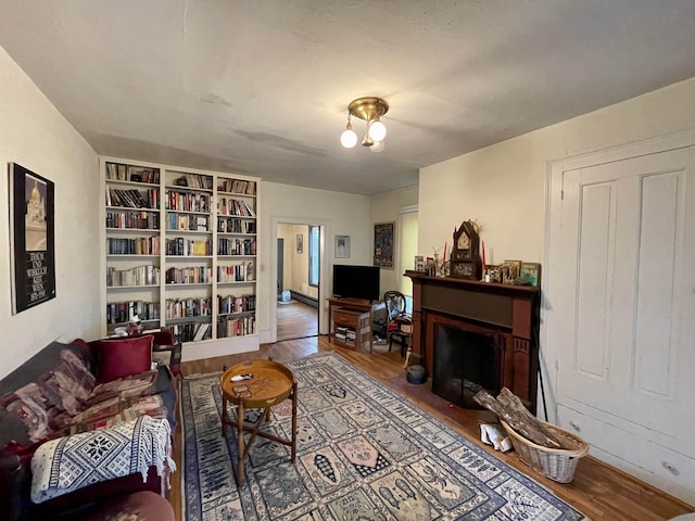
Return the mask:
POLYGON ((296 380, 294 373, 277 361, 248 360, 227 369, 219 381, 222 387, 222 435, 227 434, 227 425, 237 429, 239 442, 239 462, 237 466, 237 483, 241 485, 244 480, 243 461, 249 454, 249 448, 256 436, 265 437, 292 449, 291 461, 296 456, 296 380), (232 381, 233 377, 250 374, 250 378, 232 381), (270 418, 270 407, 285 399, 292 399, 292 436, 286 440, 275 434, 261 431, 261 427, 270 418), (231 402, 238 407, 235 420, 227 411, 227 403, 231 402), (263 414, 255 425, 243 421, 245 409, 263 409, 263 414), (244 431, 251 433, 249 441, 244 441, 244 431))

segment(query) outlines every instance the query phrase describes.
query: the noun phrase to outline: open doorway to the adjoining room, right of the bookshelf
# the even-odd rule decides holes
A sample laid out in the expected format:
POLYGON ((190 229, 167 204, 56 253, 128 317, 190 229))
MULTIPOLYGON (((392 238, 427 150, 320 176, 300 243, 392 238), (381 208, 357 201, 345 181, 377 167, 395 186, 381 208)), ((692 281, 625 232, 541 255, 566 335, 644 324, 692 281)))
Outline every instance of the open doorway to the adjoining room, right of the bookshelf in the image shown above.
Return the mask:
POLYGON ((320 227, 277 227, 277 341, 318 335, 320 227))

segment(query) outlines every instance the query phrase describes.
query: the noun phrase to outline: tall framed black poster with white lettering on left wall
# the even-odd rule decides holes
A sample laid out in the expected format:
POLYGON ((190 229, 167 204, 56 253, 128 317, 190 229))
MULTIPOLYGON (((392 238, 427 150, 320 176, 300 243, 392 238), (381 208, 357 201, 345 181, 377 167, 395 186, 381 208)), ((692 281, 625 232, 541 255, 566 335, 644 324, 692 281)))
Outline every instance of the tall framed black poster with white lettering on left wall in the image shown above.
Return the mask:
POLYGON ((12 313, 55 297, 53 182, 10 163, 12 313))

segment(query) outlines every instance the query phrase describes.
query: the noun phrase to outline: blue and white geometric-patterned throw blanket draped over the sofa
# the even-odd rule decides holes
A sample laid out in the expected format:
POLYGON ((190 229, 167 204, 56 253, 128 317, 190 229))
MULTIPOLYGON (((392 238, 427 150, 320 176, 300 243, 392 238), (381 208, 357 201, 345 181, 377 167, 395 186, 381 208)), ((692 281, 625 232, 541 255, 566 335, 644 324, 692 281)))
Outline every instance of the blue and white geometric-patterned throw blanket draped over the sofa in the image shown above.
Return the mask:
POLYGON ((73 434, 42 444, 31 458, 31 500, 42 503, 92 483, 140 472, 176 470, 165 419, 150 416, 109 429, 73 434))

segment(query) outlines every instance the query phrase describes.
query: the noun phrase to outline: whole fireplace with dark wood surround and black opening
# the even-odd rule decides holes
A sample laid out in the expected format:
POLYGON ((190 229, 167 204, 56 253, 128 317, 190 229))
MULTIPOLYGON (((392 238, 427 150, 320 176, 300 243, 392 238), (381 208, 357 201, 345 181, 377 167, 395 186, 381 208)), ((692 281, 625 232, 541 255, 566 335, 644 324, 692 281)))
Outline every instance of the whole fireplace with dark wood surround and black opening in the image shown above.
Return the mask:
POLYGON ((535 412, 540 289, 428 277, 413 279, 413 352, 432 392, 467 408, 481 386, 508 387, 535 412))

